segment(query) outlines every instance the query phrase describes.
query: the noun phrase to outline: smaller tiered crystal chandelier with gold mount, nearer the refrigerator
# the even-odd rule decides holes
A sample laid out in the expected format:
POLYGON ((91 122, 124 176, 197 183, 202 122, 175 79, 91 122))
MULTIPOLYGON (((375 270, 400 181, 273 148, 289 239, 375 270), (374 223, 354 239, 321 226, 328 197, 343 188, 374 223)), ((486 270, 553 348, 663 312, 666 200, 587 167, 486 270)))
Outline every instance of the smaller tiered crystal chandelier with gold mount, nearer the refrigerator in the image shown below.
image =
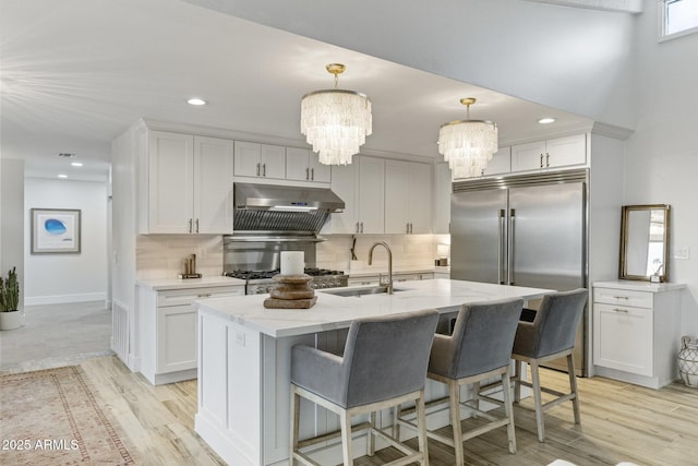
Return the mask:
POLYGON ((497 126, 492 121, 471 120, 472 97, 461 98, 467 119, 450 121, 438 130, 438 153, 448 162, 452 178, 479 177, 497 152, 497 126))

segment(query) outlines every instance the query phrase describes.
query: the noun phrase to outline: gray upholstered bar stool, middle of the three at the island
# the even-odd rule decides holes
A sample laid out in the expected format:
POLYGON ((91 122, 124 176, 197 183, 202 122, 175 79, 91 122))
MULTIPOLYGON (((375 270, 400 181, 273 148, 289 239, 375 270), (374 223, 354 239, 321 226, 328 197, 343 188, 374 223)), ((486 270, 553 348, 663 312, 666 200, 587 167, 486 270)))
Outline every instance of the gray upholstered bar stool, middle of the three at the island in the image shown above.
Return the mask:
MULTIPOLYGON (((517 323, 524 308, 520 298, 483 301, 460 307, 452 335, 436 334, 432 344, 428 377, 448 386, 448 397, 429 404, 448 405, 453 438, 429 431, 428 435, 454 447, 456 464, 464 465, 462 442, 506 426, 510 453, 516 453, 516 434, 512 410, 510 373, 512 346, 517 323), (481 395, 481 383, 500 377, 504 403, 481 395), (460 401, 460 387, 473 385, 472 398, 460 401), (486 399, 504 405, 504 417, 480 410, 479 402, 486 399), (464 432, 460 409, 467 408, 489 422, 464 432)), ((400 420, 400 423, 407 423, 400 420)))

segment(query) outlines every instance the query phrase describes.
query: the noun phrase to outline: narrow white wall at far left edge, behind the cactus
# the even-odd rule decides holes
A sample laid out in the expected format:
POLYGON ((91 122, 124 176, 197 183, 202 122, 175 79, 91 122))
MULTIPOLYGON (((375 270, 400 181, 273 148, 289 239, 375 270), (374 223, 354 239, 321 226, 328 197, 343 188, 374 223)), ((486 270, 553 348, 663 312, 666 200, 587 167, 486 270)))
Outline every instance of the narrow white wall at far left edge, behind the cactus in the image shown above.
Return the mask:
POLYGON ((0 275, 16 267, 20 308, 25 296, 24 272, 24 160, 0 159, 0 275))

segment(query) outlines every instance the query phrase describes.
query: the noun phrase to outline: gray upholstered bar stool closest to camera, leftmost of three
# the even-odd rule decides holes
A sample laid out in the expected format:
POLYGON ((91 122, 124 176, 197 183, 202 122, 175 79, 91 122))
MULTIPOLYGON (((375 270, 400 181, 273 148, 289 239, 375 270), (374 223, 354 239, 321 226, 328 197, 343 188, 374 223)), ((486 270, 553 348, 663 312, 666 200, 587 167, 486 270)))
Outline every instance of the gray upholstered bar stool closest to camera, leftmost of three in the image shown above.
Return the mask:
POLYGON ((313 444, 313 439, 300 441, 298 438, 302 396, 339 415, 345 465, 353 464, 351 417, 370 413, 368 454, 373 454, 375 435, 380 435, 407 455, 390 465, 419 462, 428 466, 424 381, 437 321, 435 310, 356 320, 349 327, 342 356, 294 346, 291 351, 290 464, 299 461, 317 465, 299 450, 313 444), (411 402, 419 411, 419 452, 375 426, 375 411, 411 402))

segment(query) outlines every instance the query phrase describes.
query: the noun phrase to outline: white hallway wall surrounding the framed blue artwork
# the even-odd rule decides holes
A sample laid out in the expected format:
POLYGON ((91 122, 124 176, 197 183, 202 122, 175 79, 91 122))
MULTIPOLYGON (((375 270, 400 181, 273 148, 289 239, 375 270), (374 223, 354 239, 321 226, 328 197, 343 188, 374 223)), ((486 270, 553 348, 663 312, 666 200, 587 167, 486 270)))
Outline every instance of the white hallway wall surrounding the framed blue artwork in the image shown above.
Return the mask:
POLYGON ((26 178, 25 304, 107 299, 107 183, 26 178), (81 210, 80 254, 31 254, 32 208, 81 210))

